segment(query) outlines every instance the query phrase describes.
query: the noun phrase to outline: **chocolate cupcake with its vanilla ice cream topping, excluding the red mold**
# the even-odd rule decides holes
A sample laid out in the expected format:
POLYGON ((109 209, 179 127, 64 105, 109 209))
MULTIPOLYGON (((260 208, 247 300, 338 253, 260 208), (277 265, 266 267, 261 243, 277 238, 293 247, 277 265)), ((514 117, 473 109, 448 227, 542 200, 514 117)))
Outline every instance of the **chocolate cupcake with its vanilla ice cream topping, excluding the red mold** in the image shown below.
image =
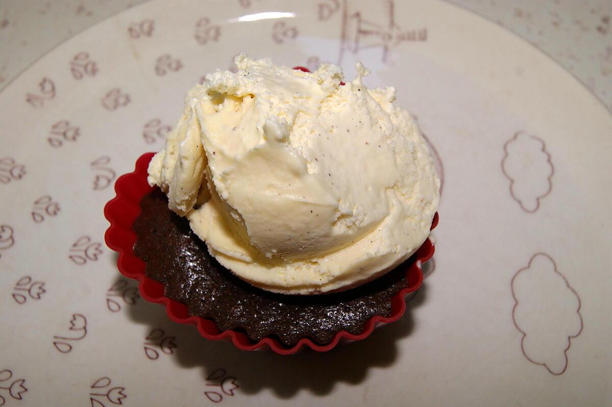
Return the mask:
POLYGON ((133 254, 221 331, 285 347, 357 335, 420 284, 411 256, 424 243, 433 253, 427 144, 393 87, 364 85, 361 64, 345 83, 331 64, 235 62, 188 92, 151 158, 133 254))

